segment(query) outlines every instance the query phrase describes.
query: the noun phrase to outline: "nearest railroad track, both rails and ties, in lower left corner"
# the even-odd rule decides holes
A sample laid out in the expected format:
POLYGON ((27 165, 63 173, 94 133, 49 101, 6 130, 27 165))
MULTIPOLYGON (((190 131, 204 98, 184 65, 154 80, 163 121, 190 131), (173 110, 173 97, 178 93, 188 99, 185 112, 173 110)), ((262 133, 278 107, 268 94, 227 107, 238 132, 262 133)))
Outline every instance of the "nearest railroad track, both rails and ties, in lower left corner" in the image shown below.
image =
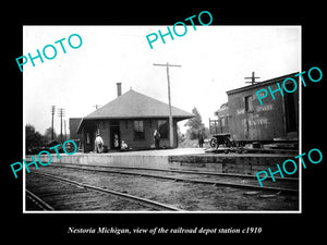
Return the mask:
MULTIPOLYGON (((89 185, 89 184, 84 184, 84 183, 76 182, 76 181, 73 181, 73 180, 70 180, 70 179, 66 179, 66 177, 56 176, 56 175, 52 175, 52 174, 40 173, 40 172, 33 172, 33 173, 29 173, 29 174, 34 174, 34 175, 37 175, 37 176, 41 176, 41 177, 52 180, 52 181, 61 182, 61 185, 59 185, 58 188, 62 187, 62 182, 65 183, 65 184, 74 186, 73 189, 66 188, 66 186, 64 187, 64 189, 58 189, 57 188, 52 193, 49 192, 49 189, 48 189, 48 191, 46 191, 46 193, 44 193, 43 195, 39 195, 39 196, 37 196, 36 194, 34 194, 31 191, 26 189, 26 197, 29 198, 29 199, 33 199, 33 201, 43 210, 56 210, 56 208, 50 206, 51 204, 48 204, 50 201, 46 203, 43 199, 43 196, 48 197, 48 199, 51 199, 51 198, 49 198, 49 196, 51 197, 51 196, 55 196, 55 195, 58 196, 58 195, 69 194, 70 195, 69 199, 72 199, 73 198, 72 196, 74 196, 74 194, 81 194, 81 193, 83 194, 84 193, 84 194, 88 195, 89 192, 86 191, 86 189, 88 189, 88 191, 93 191, 93 192, 95 191, 95 192, 98 192, 98 193, 105 193, 106 195, 111 195, 111 196, 113 195, 113 196, 117 196, 121 199, 135 203, 137 205, 150 208, 153 210, 182 211, 182 209, 179 209, 179 208, 175 208, 173 206, 166 205, 166 204, 161 204, 161 203, 158 203, 158 201, 155 201, 155 200, 150 200, 150 199, 143 198, 143 197, 137 197, 137 196, 130 195, 130 194, 122 193, 122 192, 107 189, 107 188, 104 188, 104 187, 98 187, 98 186, 94 186, 94 185, 89 185)), ((36 181, 36 183, 35 183, 36 185, 40 183, 40 180, 34 180, 34 181, 36 181)), ((38 186, 38 187, 40 187, 40 186, 38 186)), ((38 192, 41 193, 41 191, 38 191, 38 192)), ((85 198, 82 197, 82 201, 85 198)), ((64 199, 60 199, 59 203, 64 203, 64 201, 65 201, 64 199)), ((95 201, 95 203, 97 203, 97 201, 95 201)))

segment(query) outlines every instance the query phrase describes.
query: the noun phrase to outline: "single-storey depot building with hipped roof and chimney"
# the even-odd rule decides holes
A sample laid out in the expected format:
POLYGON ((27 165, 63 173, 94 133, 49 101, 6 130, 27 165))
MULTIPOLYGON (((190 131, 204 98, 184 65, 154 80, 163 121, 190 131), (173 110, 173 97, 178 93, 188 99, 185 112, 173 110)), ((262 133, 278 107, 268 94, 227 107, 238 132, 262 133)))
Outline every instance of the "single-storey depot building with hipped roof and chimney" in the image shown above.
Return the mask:
MULTIPOLYGON (((70 119, 72 139, 80 139, 83 152, 95 150, 97 133, 104 139, 105 149, 113 149, 114 135, 130 149, 154 147, 154 132, 160 133, 160 147, 169 147, 169 106, 152 97, 130 89, 121 94, 117 84, 118 97, 98 108, 83 119, 70 119)), ((193 118, 194 114, 171 107, 173 121, 173 147, 178 147, 177 123, 193 118)))

